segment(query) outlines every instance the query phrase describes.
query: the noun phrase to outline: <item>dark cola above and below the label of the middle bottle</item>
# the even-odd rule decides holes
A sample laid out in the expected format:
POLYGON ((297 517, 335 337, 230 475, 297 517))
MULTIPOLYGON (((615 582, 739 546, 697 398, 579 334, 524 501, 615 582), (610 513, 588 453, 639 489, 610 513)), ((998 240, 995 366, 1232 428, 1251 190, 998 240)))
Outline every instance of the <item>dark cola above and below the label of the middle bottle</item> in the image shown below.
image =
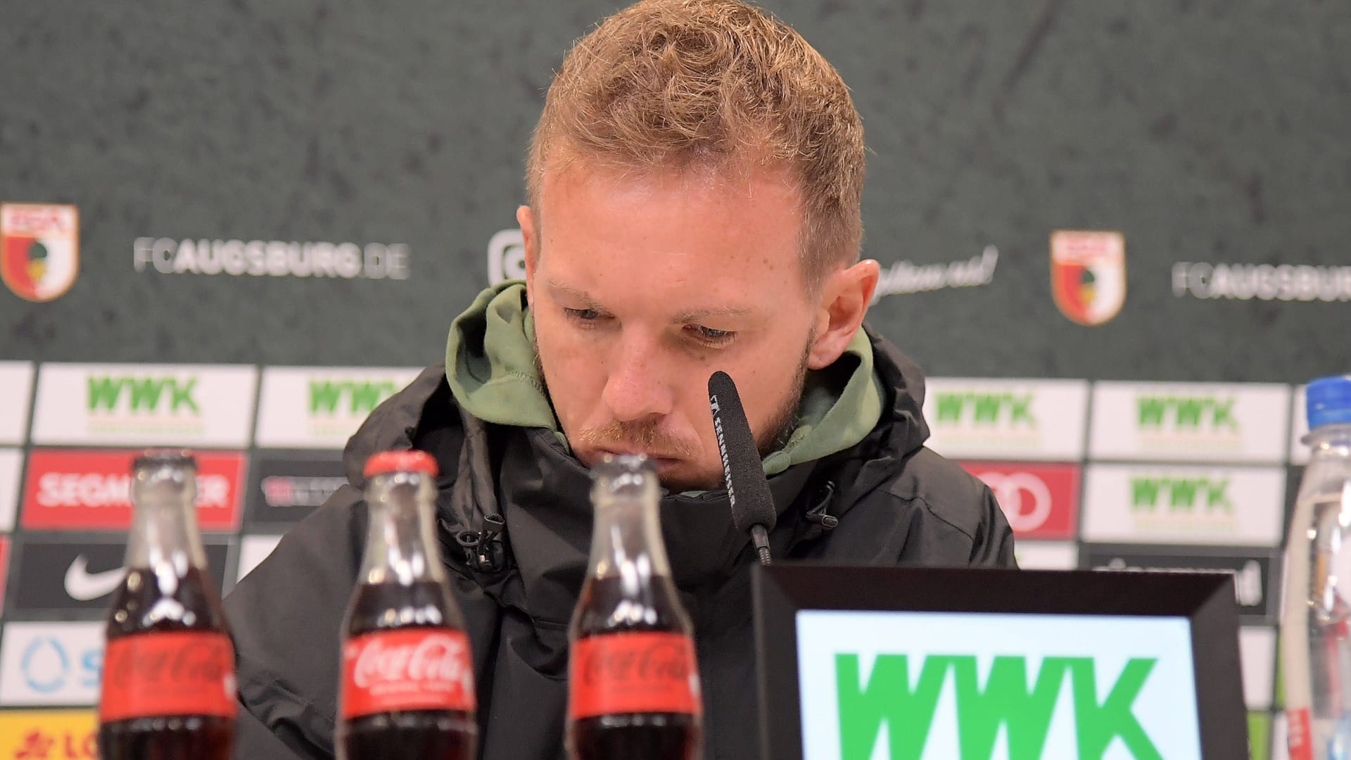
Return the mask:
MULTIPOLYGON (((426 626, 465 627, 446 590, 435 580, 361 586, 353 599, 347 637, 426 626)), ((470 760, 478 752, 478 723, 471 713, 458 710, 378 713, 346 721, 338 745, 339 757, 346 760, 470 760)))

